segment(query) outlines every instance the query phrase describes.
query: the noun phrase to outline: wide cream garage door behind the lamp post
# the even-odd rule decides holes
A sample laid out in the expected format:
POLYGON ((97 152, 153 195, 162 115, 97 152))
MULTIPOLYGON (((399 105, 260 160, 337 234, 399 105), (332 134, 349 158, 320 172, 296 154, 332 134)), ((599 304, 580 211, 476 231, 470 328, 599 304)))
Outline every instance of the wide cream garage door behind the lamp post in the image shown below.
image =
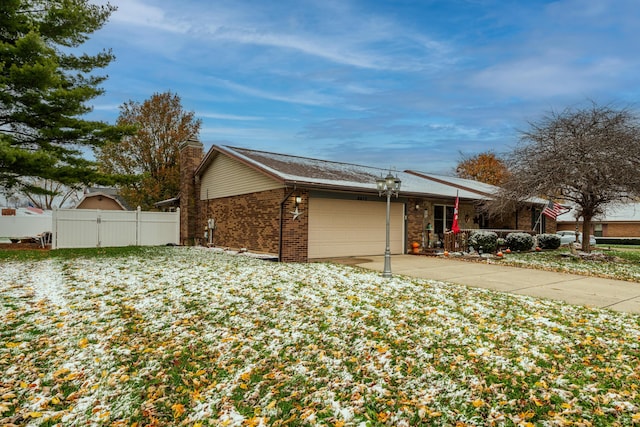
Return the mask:
MULTIPOLYGON (((383 255, 387 203, 309 199, 309 258, 383 255)), ((391 253, 404 248, 404 204, 391 203, 391 253)))

